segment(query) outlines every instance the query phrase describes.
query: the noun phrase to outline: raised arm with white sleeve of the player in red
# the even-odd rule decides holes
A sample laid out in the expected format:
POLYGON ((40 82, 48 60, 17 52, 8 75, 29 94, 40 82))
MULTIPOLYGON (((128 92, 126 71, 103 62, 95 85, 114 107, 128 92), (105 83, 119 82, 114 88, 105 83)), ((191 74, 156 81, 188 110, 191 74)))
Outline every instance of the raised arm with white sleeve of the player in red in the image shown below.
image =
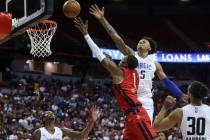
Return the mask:
POLYGON ((83 23, 81 18, 75 18, 75 27, 83 34, 88 46, 90 47, 93 54, 98 58, 101 64, 111 73, 112 77, 114 75, 123 75, 122 70, 109 58, 103 54, 99 47, 95 44, 92 38, 88 34, 88 21, 83 23))

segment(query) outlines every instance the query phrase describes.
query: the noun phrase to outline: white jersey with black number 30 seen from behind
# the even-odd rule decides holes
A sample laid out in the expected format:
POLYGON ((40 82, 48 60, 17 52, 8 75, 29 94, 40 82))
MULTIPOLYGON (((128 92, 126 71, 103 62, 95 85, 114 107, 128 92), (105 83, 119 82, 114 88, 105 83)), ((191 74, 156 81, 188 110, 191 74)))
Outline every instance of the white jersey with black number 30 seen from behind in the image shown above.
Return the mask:
POLYGON ((183 140, 210 140, 210 107, 186 105, 182 111, 183 140))

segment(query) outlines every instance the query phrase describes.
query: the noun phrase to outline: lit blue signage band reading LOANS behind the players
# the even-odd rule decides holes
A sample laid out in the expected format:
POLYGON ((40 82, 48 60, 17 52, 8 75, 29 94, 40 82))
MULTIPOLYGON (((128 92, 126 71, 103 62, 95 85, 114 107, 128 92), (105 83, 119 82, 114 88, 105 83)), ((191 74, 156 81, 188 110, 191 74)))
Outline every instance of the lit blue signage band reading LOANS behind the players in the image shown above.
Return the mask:
MULTIPOLYGON (((121 60, 123 54, 114 49, 101 49, 112 56, 113 60, 121 60)), ((156 53, 153 54, 158 62, 163 63, 210 63, 210 53, 156 53)), ((93 55, 95 58, 95 56, 93 55)))

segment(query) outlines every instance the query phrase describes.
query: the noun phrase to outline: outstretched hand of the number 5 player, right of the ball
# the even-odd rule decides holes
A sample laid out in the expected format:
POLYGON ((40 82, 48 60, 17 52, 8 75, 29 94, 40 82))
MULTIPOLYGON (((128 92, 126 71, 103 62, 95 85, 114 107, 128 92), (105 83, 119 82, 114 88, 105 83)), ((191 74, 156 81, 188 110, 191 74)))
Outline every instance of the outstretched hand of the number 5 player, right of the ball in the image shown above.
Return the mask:
POLYGON ((89 8, 89 12, 91 15, 93 15, 98 20, 100 20, 104 17, 104 7, 102 7, 102 9, 100 9, 97 4, 91 5, 89 8))

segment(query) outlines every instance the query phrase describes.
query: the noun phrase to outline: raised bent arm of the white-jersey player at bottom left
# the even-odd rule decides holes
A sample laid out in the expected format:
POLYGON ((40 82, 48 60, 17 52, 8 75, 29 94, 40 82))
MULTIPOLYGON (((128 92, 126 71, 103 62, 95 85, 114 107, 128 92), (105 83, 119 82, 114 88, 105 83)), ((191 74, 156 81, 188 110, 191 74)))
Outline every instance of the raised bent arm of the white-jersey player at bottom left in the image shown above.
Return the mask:
POLYGON ((89 133, 91 132, 94 123, 96 122, 97 118, 99 116, 99 110, 96 106, 93 106, 90 110, 90 117, 88 119, 88 122, 86 124, 86 127, 83 129, 82 132, 79 131, 73 131, 68 128, 63 128, 62 132, 64 136, 68 136, 70 138, 77 138, 77 139, 87 139, 89 133))

